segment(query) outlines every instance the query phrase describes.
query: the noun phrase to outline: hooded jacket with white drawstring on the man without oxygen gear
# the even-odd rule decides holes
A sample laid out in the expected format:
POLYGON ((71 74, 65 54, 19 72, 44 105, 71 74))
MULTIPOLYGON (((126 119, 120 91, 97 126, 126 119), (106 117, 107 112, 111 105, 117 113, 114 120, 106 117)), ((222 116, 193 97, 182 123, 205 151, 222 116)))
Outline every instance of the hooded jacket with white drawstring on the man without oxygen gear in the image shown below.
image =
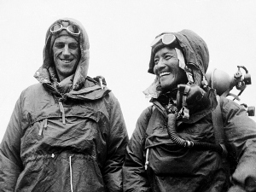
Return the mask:
MULTIPOLYGON (((76 72, 58 82, 46 34, 38 84, 23 90, 0 146, 0 191, 121 191, 128 135, 118 100, 87 76, 89 41, 79 26, 76 72)), ((53 23, 53 25, 55 24, 53 23)), ((50 27, 49 27, 50 29, 50 27)))

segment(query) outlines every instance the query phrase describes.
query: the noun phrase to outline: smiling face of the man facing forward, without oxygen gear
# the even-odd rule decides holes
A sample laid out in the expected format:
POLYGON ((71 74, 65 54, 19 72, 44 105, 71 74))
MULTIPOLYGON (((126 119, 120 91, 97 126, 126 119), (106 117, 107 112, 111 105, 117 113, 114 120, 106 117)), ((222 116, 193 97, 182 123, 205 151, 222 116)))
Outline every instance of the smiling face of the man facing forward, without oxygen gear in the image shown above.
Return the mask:
POLYGON ((52 51, 55 69, 60 81, 75 73, 80 52, 79 43, 74 38, 70 36, 56 38, 52 51))

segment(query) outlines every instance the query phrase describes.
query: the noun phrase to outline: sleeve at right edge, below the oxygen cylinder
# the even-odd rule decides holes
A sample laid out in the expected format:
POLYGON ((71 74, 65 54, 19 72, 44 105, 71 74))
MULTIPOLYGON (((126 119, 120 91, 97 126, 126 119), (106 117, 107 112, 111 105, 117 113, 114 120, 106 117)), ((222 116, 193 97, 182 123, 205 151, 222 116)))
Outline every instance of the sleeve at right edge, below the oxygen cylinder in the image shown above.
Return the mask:
POLYGON ((229 191, 256 191, 256 123, 244 108, 226 98, 222 113, 225 135, 238 160, 229 191))

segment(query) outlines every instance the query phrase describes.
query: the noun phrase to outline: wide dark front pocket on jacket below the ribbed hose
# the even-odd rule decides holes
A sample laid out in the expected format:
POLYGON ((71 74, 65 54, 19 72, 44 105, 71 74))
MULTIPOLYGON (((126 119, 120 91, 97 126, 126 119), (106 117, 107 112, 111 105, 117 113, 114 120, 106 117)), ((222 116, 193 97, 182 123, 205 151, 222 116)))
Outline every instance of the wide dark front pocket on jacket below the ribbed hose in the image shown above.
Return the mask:
POLYGON ((218 167, 219 157, 213 151, 183 148, 175 144, 161 144, 150 148, 148 165, 156 175, 193 177, 207 175, 218 167))

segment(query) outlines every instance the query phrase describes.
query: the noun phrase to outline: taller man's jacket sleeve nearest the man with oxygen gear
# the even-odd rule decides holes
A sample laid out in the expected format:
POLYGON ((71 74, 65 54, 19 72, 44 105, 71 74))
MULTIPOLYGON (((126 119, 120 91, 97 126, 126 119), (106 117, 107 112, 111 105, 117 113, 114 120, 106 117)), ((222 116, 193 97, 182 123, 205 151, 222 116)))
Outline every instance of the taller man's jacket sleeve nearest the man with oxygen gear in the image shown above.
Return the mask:
POLYGON ((122 191, 122 166, 125 160, 125 148, 128 143, 128 134, 125 127, 125 120, 118 100, 113 96, 108 103, 110 120, 108 136, 108 160, 105 163, 103 174, 104 182, 108 191, 122 191))

